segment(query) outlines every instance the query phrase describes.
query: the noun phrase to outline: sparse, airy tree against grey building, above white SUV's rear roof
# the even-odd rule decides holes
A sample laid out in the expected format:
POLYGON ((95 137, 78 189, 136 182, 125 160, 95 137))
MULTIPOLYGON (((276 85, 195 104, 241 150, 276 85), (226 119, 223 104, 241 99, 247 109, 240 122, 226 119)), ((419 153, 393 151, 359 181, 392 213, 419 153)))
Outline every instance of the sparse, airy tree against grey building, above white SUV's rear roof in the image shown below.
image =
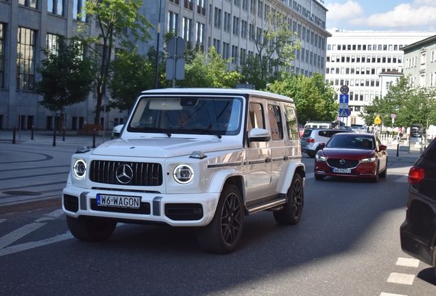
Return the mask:
POLYGON ((291 66, 295 50, 299 50, 301 42, 296 40, 296 32, 280 12, 267 13, 261 23, 254 17, 248 22, 258 28, 248 32, 250 40, 254 40, 256 53, 254 56, 241 56, 242 66, 238 71, 243 75, 241 82, 252 83, 258 89, 266 87, 268 82, 280 78, 276 67, 286 69, 291 66))

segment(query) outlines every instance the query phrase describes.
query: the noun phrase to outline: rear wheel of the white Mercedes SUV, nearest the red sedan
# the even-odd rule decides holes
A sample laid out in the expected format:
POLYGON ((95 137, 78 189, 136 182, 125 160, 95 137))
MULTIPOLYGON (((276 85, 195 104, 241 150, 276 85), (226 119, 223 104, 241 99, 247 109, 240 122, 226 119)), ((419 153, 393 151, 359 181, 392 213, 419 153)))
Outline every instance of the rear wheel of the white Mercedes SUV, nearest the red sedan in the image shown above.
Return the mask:
POLYGON ((295 225, 301 219, 304 205, 304 188, 300 174, 295 173, 293 176, 287 197, 288 202, 284 204, 283 208, 274 212, 274 219, 279 224, 295 225))

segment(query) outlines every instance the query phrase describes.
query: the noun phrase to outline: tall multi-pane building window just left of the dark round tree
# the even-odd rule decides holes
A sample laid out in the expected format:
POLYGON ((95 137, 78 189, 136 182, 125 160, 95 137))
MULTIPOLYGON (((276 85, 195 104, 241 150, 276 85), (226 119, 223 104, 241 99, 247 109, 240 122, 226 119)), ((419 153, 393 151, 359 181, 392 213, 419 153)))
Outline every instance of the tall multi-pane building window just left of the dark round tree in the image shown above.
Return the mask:
POLYGON ((33 90, 35 79, 36 31, 19 27, 16 58, 16 88, 33 90))

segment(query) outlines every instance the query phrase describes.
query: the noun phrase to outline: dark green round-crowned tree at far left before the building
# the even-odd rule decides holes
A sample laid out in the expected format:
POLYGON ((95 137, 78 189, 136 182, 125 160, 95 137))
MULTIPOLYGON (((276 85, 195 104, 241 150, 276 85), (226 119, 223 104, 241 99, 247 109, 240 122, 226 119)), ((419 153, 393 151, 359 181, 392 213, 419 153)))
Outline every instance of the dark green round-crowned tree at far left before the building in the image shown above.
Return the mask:
POLYGON ((36 71, 40 81, 35 84, 35 93, 43 96, 39 101, 52 112, 64 113, 66 106, 85 101, 93 90, 95 77, 94 62, 83 58, 82 46, 71 40, 66 45, 59 39, 57 51, 42 49, 45 60, 40 62, 36 71))

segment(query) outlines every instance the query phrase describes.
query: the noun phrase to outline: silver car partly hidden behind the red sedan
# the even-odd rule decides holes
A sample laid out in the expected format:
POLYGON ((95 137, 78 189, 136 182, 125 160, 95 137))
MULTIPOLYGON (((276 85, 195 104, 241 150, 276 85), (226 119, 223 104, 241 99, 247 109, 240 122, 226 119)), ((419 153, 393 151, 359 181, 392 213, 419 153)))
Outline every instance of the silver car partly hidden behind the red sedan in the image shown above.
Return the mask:
POLYGON ((331 136, 341 132, 350 131, 336 129, 315 129, 312 127, 306 128, 300 140, 301 151, 307 153, 309 157, 314 158, 315 153, 321 149, 319 144, 327 143, 331 136))

